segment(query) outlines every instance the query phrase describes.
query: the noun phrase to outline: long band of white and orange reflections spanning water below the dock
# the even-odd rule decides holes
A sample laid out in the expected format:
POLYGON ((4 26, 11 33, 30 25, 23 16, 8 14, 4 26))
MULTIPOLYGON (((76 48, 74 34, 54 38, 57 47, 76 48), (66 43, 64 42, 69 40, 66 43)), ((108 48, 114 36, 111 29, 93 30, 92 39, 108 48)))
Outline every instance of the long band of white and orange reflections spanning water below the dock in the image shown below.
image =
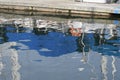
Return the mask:
POLYGON ((39 31, 61 31, 63 33, 69 32, 73 36, 81 36, 82 33, 96 33, 98 35, 104 34, 105 39, 111 39, 115 36, 116 26, 113 24, 100 24, 100 23, 83 23, 80 21, 68 21, 67 23, 58 23, 56 21, 48 21, 42 19, 32 18, 19 18, 5 20, 11 22, 16 28, 32 27, 39 28, 39 31))

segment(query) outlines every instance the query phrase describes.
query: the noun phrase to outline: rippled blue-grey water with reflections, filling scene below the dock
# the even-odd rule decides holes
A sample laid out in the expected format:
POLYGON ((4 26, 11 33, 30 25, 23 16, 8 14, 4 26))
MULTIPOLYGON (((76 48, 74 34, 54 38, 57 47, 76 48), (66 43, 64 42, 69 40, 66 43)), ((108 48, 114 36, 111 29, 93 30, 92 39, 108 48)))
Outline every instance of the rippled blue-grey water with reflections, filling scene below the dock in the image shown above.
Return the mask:
POLYGON ((72 36, 65 22, 46 31, 1 24, 0 80, 120 80, 119 24, 111 39, 98 33, 108 24, 85 25, 101 28, 72 36))

